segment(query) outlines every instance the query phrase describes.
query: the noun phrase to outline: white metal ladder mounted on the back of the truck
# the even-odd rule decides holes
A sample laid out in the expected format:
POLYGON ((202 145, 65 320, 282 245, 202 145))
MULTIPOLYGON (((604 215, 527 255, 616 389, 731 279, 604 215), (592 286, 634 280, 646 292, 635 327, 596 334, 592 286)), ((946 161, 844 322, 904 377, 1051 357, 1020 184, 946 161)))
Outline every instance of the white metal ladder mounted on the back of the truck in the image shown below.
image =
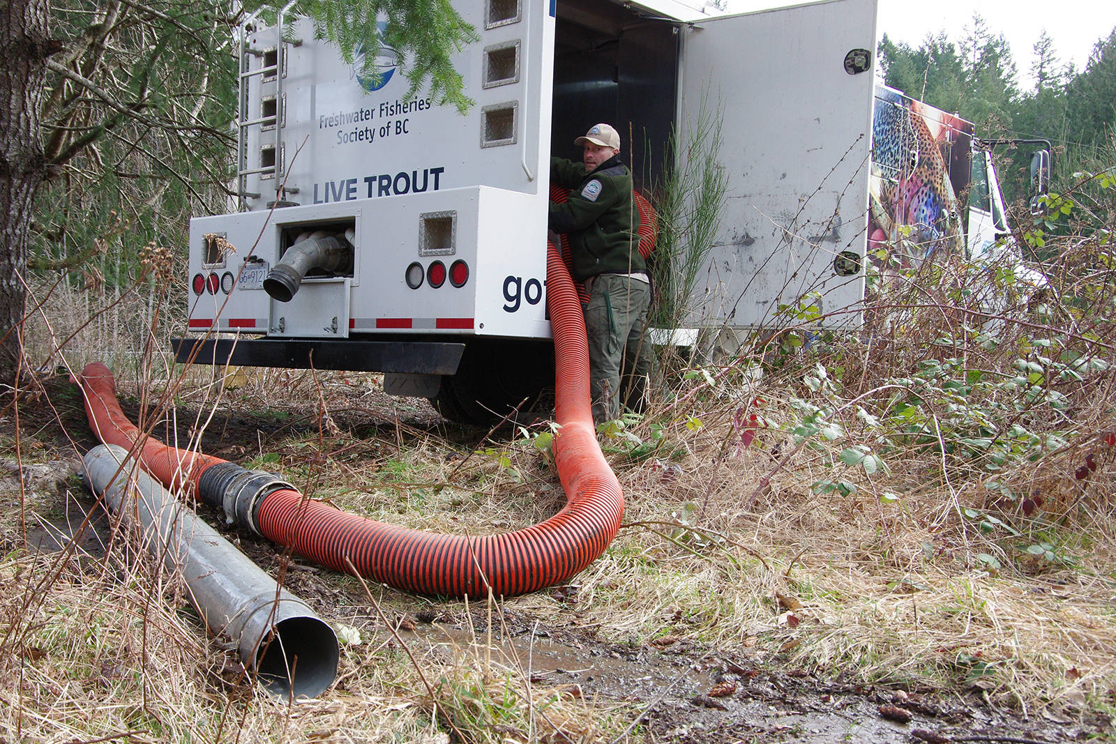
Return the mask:
MULTIPOLYGON (((263 9, 257 10, 248 16, 240 25, 238 39, 239 74, 237 77, 237 202, 240 211, 248 210, 249 199, 260 199, 259 192, 248 191, 248 176, 259 174, 260 176, 272 176, 275 180, 276 197, 275 202, 268 206, 285 205, 285 194, 297 193, 296 189, 287 189, 283 185, 283 141, 282 129, 286 125, 286 105, 283 100, 283 78, 287 75, 287 46, 300 46, 300 39, 285 38, 286 18, 290 8, 297 0, 290 0, 283 6, 276 18, 276 46, 270 49, 253 49, 249 47, 248 38, 259 22, 260 13, 263 9), (260 65, 252 67, 252 60, 259 59, 260 65), (259 116, 253 116, 249 112, 251 105, 249 86, 251 78, 260 76, 261 84, 267 81, 268 76, 275 76, 276 91, 273 105, 261 110, 259 116), (248 152, 248 133, 251 127, 260 127, 261 155, 260 165, 253 166, 248 152), (262 145, 264 132, 268 128, 275 131, 275 142, 271 146, 271 162, 263 156, 267 149, 262 145)), ((261 100, 267 104, 267 97, 261 96, 261 100)))

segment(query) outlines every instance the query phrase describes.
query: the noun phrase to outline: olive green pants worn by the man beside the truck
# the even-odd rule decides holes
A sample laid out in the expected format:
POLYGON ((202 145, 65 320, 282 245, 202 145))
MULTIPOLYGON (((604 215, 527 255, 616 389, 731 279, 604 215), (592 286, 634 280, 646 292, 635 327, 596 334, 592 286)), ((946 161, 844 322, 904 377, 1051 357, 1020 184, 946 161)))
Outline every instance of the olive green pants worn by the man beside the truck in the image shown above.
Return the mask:
POLYGON ((652 371, 646 337, 651 287, 618 274, 589 282, 585 328, 589 337, 589 392, 596 423, 619 417, 622 404, 637 408, 652 371))

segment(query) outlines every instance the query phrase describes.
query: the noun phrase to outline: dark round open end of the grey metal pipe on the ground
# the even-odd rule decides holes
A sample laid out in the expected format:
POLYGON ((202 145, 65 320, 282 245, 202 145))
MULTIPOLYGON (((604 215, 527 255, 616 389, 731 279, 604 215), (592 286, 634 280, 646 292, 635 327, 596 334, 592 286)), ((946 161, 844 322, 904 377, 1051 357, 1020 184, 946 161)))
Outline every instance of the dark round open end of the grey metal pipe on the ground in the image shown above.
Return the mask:
POLYGON ((260 644, 256 671, 263 688, 277 697, 311 698, 334 683, 339 660, 337 636, 328 624, 294 617, 277 622, 260 644))

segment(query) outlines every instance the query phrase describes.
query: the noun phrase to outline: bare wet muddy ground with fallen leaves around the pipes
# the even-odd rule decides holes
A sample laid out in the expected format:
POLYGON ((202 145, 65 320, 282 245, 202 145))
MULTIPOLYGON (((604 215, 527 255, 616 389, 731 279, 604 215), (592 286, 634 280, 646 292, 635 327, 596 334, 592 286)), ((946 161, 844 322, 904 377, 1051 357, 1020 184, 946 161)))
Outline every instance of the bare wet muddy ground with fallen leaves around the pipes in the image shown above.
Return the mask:
MULTIPOLYGON (((21 470, 15 452, 0 452, 2 508, 18 508, 22 476, 26 503, 35 504, 27 523, 27 544, 58 551, 76 539, 80 551, 97 557, 110 540, 108 519, 94 508, 92 496, 80 492, 76 480, 79 454, 96 441, 76 388, 64 378, 47 385, 46 395, 20 408, 21 456, 23 462, 36 464, 21 470), (93 529, 83 530, 87 523, 93 529)), ((136 415, 135 402, 125 398, 122 404, 126 414, 136 415)), ((437 433, 466 444, 480 442, 485 434, 448 427, 425 402, 402 409, 404 431, 437 433)), ((373 437, 397 432, 400 410, 392 400, 363 400, 337 415, 345 418, 338 422, 343 427, 373 437)), ((180 410, 180 421, 192 421, 192 413, 180 410)), ((10 437, 13 425, 8 410, 0 418, 0 434, 10 437)), ((310 415, 276 418, 227 410, 206 431, 202 450, 235 460, 234 443, 278 442, 316 427, 310 415)), ((203 516, 210 523, 218 522, 213 513, 203 516)), ((277 548, 252 535, 229 537, 269 571, 275 572, 287 560, 277 548)), ((6 529, 0 534, 0 549, 18 548, 22 539, 18 530, 6 529)), ((394 640, 352 582, 299 559, 291 568, 289 588, 316 605, 326 619, 360 628, 366 637, 383 642, 394 640)), ((573 596, 576 587, 557 591, 573 596)), ((483 610, 466 617, 460 602, 396 595, 388 611, 395 618, 398 638, 416 655, 452 656, 470 648, 483 654, 481 645, 488 638, 483 610)), ((575 611, 568 622, 557 625, 516 610, 504 609, 502 615, 493 628, 489 654, 521 669, 532 685, 561 687, 570 695, 634 712, 638 728, 627 741, 1027 744, 1112 737, 1113 722, 1101 714, 1045 711, 1028 715, 1027 711, 995 704, 979 687, 931 690, 865 686, 849 682, 853 675, 839 669, 793 668, 780 664, 778 657, 761 660, 758 655, 750 656, 747 649, 730 651, 670 638, 665 642, 660 639, 657 645, 608 642, 575 611)))

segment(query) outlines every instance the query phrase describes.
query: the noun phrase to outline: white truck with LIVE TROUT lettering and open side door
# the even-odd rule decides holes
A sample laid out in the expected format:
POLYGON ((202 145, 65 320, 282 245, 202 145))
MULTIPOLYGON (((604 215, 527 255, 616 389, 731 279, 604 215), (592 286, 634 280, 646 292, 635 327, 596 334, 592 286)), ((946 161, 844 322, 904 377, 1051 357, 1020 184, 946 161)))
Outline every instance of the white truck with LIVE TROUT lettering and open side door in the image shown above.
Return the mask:
MULTIPOLYGON (((873 172, 898 183, 920 162, 904 134, 914 154, 872 164, 876 0, 721 18, 672 0, 453 4, 481 37, 454 58, 466 115, 406 99, 391 49, 368 79, 305 18, 243 25, 239 211, 191 221, 180 361, 383 371, 388 392, 450 418, 503 413, 554 379, 550 155, 578 157, 574 138, 609 122, 653 191, 706 91, 729 190, 691 321, 762 326, 807 292, 855 321, 869 240, 897 224, 870 209, 873 172)), ((924 120, 903 110, 887 120, 924 120)), ((987 166, 989 224, 1004 232, 987 166)))

